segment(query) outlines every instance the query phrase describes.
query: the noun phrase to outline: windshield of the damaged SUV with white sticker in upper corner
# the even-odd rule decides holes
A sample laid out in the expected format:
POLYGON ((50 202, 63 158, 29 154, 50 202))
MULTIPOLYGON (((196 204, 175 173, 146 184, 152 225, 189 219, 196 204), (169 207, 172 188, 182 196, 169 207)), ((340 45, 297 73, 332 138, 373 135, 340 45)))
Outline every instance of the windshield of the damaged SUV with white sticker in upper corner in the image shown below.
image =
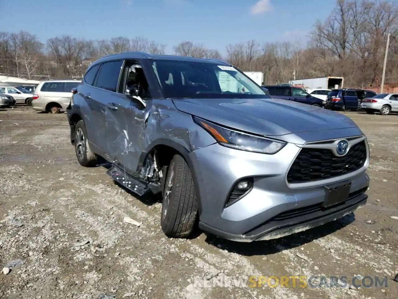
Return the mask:
POLYGON ((234 67, 207 62, 155 60, 166 98, 270 98, 234 67))

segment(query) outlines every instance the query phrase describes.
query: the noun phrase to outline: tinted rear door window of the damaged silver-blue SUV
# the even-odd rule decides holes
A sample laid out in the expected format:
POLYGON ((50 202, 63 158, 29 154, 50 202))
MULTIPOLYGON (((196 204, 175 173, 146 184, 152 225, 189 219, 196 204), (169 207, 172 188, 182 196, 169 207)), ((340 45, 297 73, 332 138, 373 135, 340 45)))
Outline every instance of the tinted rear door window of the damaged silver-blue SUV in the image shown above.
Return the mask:
POLYGON ((103 63, 98 74, 96 87, 116 92, 122 65, 122 60, 103 63))

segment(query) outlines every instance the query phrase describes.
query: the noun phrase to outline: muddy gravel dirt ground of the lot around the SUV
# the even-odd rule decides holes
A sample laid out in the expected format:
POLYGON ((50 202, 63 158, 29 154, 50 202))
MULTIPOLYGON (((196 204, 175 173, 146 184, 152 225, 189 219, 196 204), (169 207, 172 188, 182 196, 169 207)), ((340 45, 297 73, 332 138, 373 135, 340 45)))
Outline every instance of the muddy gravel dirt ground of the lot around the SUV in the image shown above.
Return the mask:
POLYGON ((371 146, 367 205, 299 234, 235 243, 166 238, 156 199, 77 163, 66 114, 0 110, 0 269, 11 270, 0 272, 0 298, 398 298, 398 115, 346 114, 371 146), (378 276, 387 287, 227 285, 251 275, 378 276))

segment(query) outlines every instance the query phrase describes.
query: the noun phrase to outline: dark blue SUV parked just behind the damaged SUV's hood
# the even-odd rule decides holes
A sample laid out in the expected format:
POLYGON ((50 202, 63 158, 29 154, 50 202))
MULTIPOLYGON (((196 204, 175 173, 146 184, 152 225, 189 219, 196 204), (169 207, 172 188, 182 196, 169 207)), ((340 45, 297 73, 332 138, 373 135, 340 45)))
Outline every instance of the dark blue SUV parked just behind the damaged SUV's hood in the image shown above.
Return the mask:
POLYGON ((324 102, 320 98, 311 96, 303 89, 290 85, 264 86, 272 98, 282 98, 312 106, 323 107, 324 102))

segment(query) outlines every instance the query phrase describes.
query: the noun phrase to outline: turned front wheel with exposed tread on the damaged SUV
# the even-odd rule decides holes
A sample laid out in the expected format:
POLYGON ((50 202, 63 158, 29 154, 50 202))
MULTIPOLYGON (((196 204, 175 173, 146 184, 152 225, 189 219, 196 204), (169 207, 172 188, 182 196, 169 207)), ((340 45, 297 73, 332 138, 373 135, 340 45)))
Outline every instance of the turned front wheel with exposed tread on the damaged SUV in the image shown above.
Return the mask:
POLYGON ((166 236, 189 236, 194 229, 198 207, 195 186, 188 164, 174 155, 166 175, 160 224, 166 236))

